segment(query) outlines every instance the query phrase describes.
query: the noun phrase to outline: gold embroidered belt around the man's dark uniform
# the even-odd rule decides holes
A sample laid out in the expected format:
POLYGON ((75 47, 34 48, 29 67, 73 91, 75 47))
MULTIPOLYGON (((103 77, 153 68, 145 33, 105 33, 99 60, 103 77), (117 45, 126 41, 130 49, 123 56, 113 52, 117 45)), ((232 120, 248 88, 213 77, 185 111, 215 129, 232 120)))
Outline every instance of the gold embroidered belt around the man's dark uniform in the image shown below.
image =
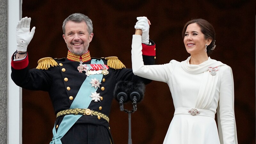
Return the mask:
POLYGON ((70 114, 74 114, 74 115, 82 114, 82 115, 86 115, 86 116, 89 116, 89 115, 97 116, 98 119, 103 118, 104 120, 109 122, 109 118, 107 115, 104 115, 95 110, 91 110, 89 108, 72 108, 72 109, 61 110, 57 113, 57 117, 63 116, 63 115, 70 115, 70 114))

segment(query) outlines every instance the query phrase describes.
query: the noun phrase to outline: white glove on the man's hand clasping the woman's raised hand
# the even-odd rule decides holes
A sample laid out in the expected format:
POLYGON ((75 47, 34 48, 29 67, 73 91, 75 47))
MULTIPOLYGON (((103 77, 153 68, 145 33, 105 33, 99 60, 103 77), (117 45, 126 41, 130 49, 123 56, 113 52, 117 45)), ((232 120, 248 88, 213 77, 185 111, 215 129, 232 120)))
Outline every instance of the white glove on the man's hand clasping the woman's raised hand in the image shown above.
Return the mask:
POLYGON ((143 44, 149 43, 149 20, 147 17, 137 17, 136 25, 134 26, 135 29, 141 29, 141 41, 143 44))

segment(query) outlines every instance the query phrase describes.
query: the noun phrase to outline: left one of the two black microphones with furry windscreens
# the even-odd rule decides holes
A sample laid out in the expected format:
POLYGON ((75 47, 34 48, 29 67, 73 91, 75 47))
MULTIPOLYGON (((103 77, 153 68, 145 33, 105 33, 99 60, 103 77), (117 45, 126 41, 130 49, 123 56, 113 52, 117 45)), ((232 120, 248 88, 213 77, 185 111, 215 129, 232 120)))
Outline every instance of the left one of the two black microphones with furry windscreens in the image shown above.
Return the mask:
POLYGON ((114 97, 119 102, 120 111, 124 111, 124 103, 128 101, 128 95, 131 92, 131 82, 119 81, 114 89, 114 97))

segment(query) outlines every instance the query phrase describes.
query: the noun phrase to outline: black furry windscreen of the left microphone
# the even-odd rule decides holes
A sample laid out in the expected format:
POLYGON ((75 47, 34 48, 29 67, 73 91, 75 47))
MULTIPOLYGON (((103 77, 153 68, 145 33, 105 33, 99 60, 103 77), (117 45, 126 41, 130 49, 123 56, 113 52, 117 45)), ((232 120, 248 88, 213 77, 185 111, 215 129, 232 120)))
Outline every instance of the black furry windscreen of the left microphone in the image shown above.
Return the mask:
MULTIPOLYGON (((127 95, 130 95, 130 93, 131 93, 131 83, 129 81, 119 81, 119 82, 117 82, 116 86, 115 86, 115 89, 114 89, 114 98, 117 101, 119 101, 118 98, 117 98, 117 95, 120 92, 124 92, 127 95)), ((127 102, 127 100, 124 101, 124 102, 127 102)))

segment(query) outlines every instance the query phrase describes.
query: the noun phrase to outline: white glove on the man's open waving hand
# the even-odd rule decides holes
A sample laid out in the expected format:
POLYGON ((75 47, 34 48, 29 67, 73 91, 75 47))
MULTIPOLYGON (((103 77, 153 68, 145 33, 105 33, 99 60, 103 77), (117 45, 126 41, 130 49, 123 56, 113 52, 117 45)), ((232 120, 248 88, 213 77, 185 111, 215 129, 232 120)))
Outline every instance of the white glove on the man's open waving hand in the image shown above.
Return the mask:
POLYGON ((17 40, 17 51, 27 52, 28 44, 34 36, 36 27, 30 30, 31 18, 22 18, 16 27, 16 40, 17 40))

